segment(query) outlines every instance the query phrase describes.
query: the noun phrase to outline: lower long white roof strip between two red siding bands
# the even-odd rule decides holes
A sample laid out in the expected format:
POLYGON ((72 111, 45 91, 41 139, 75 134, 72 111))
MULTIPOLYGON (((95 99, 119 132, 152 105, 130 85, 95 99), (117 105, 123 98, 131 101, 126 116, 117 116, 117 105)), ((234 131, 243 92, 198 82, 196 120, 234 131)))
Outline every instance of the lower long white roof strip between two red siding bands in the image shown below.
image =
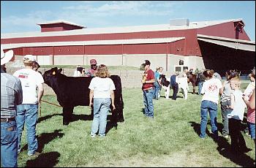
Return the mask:
POLYGON ((115 40, 94 40, 81 42, 34 42, 1 45, 3 49, 18 47, 48 47, 48 46, 69 46, 69 45, 132 45, 132 44, 154 44, 176 42, 185 37, 155 38, 155 39, 115 39, 115 40))

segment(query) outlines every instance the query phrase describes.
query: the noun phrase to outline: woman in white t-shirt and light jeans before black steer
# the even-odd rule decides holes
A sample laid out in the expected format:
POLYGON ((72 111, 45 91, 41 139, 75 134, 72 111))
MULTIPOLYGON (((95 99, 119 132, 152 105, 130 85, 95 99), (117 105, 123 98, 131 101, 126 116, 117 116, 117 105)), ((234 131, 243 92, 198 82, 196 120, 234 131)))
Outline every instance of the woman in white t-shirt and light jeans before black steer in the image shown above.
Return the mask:
POLYGON ((99 131, 99 137, 105 137, 107 126, 107 116, 112 104, 115 107, 114 90, 116 90, 113 80, 110 79, 110 73, 107 66, 99 65, 96 77, 92 78, 89 85, 90 104, 89 107, 94 108, 94 119, 91 123, 91 137, 96 137, 99 131))

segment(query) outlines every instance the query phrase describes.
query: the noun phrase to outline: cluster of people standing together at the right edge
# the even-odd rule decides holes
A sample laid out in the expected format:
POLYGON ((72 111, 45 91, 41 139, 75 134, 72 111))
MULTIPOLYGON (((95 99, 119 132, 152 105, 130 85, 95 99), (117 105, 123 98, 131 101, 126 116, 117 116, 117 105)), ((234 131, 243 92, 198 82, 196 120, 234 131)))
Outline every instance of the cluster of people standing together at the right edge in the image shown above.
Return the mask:
POLYGON ((213 70, 203 72, 206 81, 203 83, 203 99, 200 106, 200 138, 206 137, 207 115, 211 118, 211 132, 214 139, 219 137, 217 129, 217 109, 219 95, 222 110, 222 136, 231 139, 231 150, 237 152, 248 152, 246 142, 241 134, 241 121, 244 119, 247 107, 247 123, 252 140, 255 142, 255 69, 249 75, 251 83, 244 93, 241 91, 241 80, 238 72, 229 70, 223 83, 214 77, 213 70))

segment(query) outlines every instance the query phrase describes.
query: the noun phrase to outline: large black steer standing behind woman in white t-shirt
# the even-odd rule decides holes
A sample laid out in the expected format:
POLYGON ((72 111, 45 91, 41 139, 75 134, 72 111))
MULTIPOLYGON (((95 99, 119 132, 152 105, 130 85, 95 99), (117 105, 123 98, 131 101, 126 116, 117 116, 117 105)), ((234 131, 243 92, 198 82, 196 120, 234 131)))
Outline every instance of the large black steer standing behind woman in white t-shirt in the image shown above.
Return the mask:
MULTIPOLYGON (((44 73, 42 77, 45 83, 53 88, 57 100, 63 107, 63 124, 68 125, 72 121, 72 113, 76 106, 89 106, 89 85, 92 77, 67 77, 61 74, 62 69, 52 68, 44 73)), ((111 121, 113 124, 124 121, 124 102, 121 93, 121 79, 118 75, 111 75, 110 78, 116 86, 115 106, 112 110, 111 121)), ((93 114, 93 113, 92 113, 93 114)))

